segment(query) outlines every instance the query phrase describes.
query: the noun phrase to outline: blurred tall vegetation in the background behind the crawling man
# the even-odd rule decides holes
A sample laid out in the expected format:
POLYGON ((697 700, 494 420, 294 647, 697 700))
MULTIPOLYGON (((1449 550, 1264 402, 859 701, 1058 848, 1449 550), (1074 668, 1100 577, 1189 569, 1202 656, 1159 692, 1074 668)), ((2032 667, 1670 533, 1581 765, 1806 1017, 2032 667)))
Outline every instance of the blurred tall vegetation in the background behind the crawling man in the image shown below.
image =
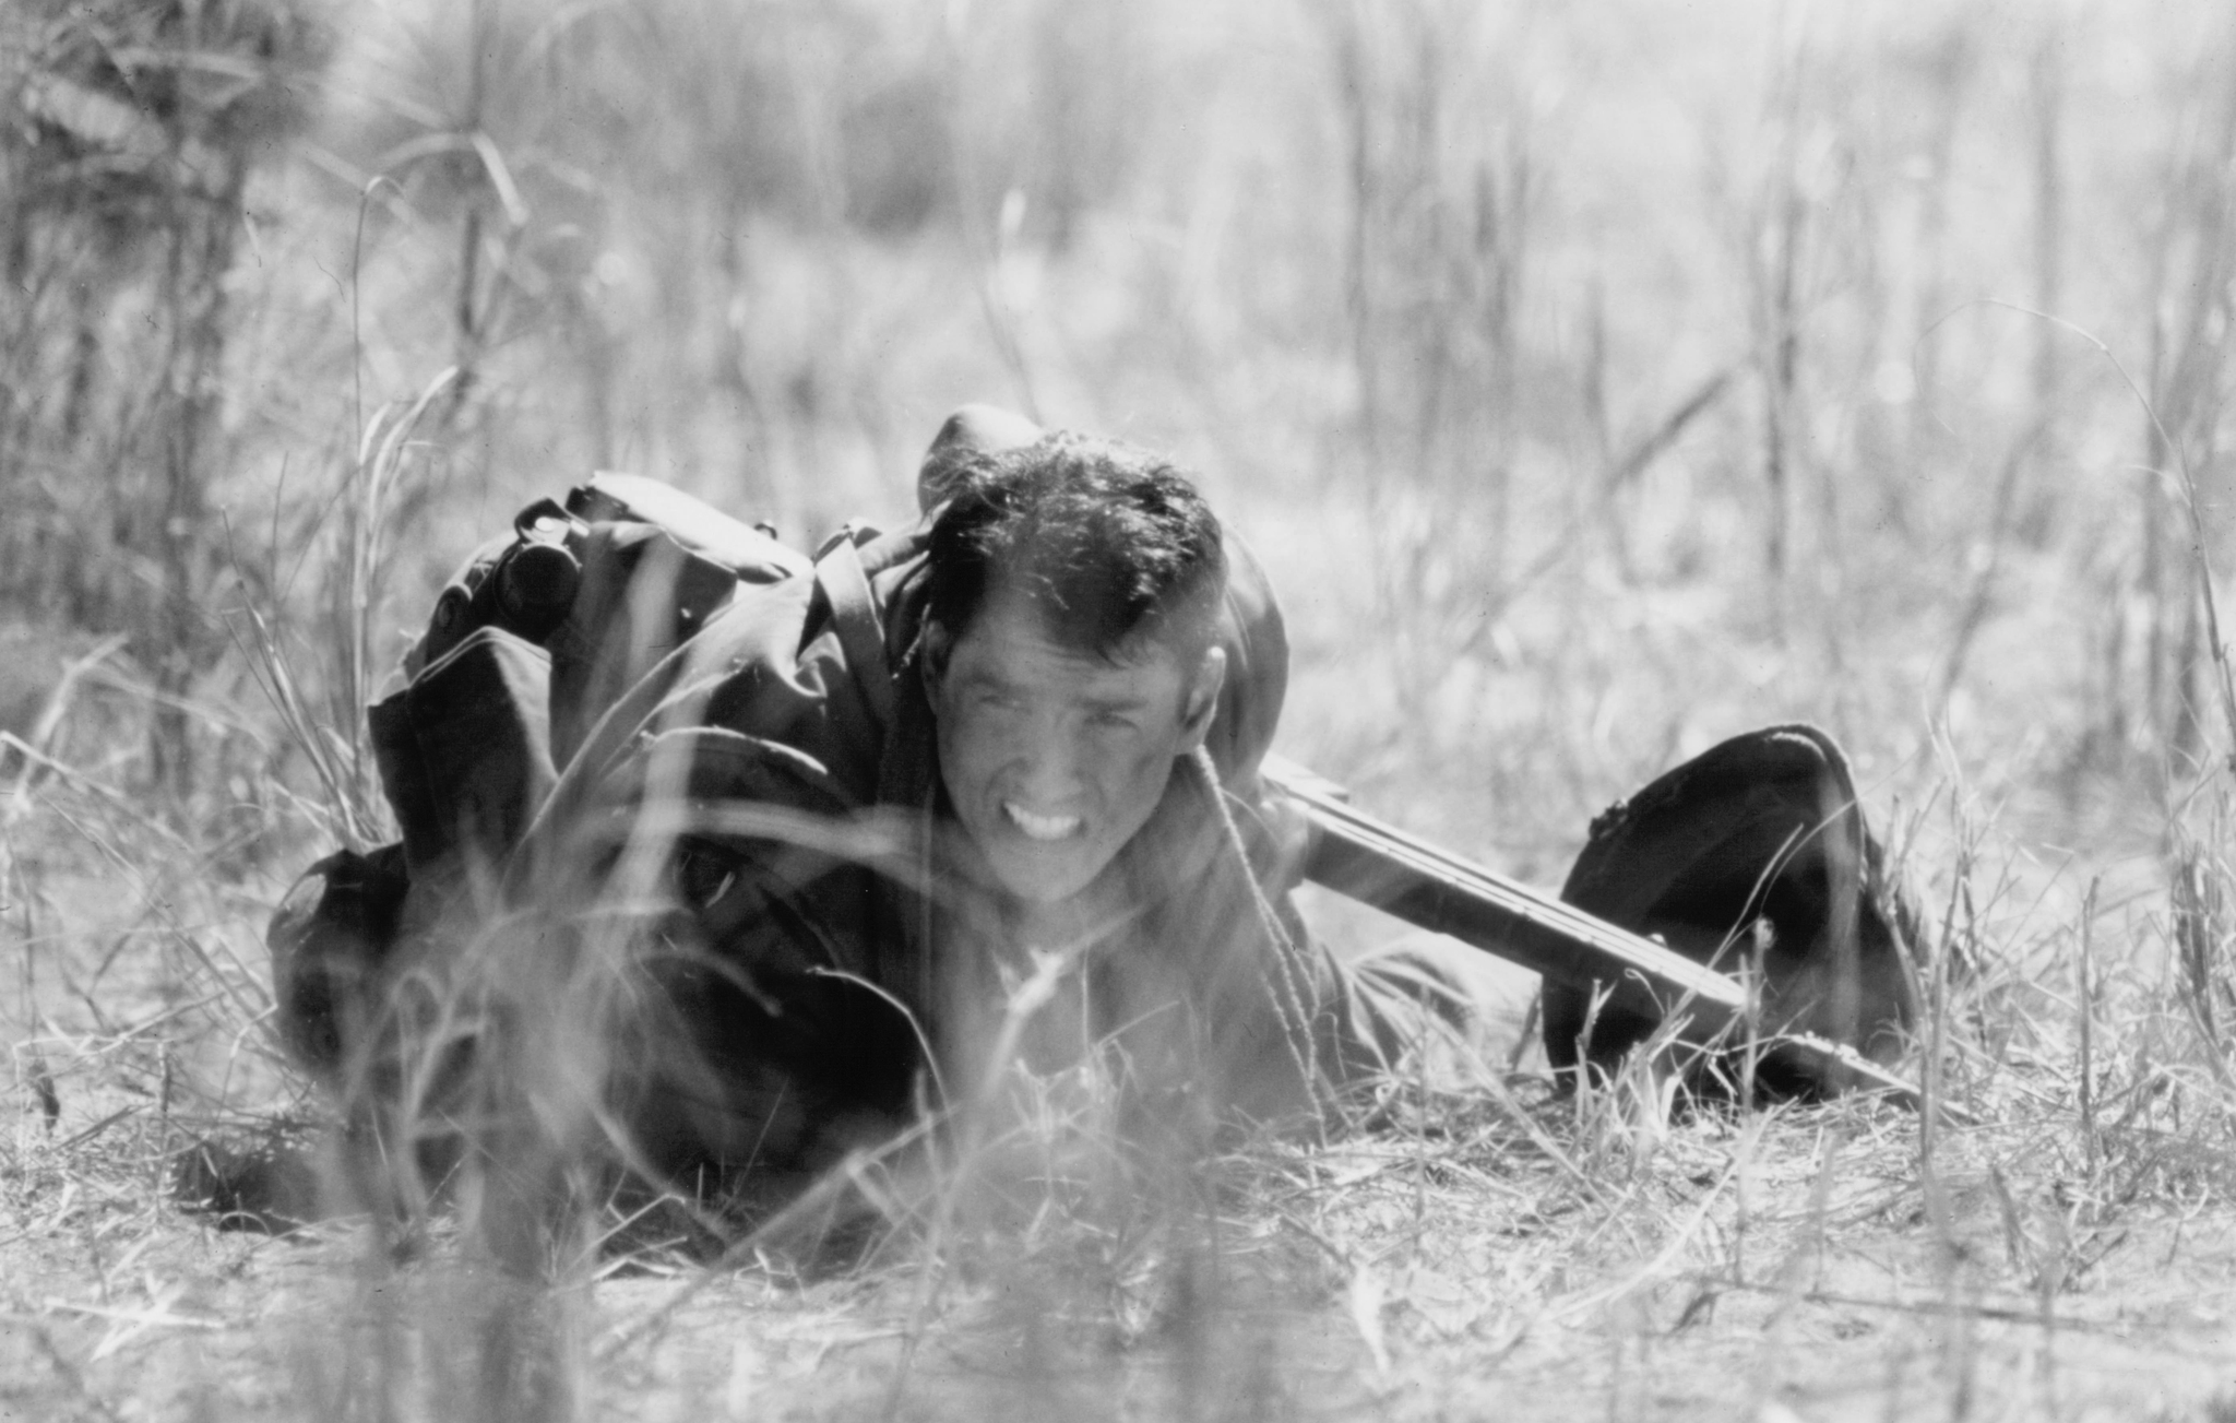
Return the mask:
POLYGON ((2164 884, 2229 738, 2173 472, 2227 566, 2232 43, 2113 0, 13 0, 0 729, 268 897, 358 774, 288 723, 351 743, 517 506, 628 468, 794 541, 901 521, 995 400, 1198 468, 1288 602, 1286 747, 1491 864, 1556 882, 1605 801, 1807 718, 1903 844, 1992 814, 2164 884))

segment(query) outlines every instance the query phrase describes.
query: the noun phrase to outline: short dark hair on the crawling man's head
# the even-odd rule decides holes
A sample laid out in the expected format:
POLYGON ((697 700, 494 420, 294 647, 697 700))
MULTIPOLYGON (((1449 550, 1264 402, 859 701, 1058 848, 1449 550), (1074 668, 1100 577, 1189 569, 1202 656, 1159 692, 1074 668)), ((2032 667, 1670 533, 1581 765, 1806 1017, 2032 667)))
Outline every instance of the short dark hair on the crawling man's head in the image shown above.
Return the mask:
POLYGON ((1064 647, 1118 662, 1145 635, 1205 647, 1228 557, 1176 465, 1053 432, 975 456, 930 533, 926 622, 961 638, 995 588, 1022 593, 1064 647))

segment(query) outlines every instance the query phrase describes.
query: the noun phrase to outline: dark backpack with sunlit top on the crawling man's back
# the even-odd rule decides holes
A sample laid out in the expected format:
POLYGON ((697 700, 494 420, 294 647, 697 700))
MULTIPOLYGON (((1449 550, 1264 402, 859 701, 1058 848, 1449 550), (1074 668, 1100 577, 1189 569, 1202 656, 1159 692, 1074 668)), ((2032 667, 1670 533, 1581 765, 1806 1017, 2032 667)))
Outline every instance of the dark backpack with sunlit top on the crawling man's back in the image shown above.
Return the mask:
POLYGON ((400 839, 309 866, 266 933, 293 1058, 340 1087, 398 946, 508 864, 613 705, 738 588, 809 571, 774 530, 633 474, 530 503, 476 548, 367 707, 400 839))

